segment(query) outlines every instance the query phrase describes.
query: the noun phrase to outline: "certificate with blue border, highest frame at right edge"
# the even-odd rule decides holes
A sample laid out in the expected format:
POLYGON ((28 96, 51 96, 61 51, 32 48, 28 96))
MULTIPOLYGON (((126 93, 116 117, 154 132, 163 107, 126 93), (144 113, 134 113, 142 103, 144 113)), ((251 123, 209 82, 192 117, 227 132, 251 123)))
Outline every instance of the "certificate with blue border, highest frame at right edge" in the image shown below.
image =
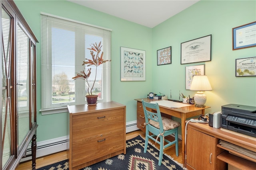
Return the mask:
POLYGON ((256 46, 256 21, 232 28, 233 50, 256 46))

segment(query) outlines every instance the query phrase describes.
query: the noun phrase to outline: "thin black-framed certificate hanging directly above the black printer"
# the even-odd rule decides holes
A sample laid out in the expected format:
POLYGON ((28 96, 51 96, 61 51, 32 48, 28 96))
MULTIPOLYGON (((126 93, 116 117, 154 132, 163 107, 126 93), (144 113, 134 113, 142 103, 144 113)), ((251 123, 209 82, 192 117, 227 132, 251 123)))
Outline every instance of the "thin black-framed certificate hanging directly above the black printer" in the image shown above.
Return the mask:
POLYGON ((236 77, 256 76, 256 57, 236 59, 236 77))

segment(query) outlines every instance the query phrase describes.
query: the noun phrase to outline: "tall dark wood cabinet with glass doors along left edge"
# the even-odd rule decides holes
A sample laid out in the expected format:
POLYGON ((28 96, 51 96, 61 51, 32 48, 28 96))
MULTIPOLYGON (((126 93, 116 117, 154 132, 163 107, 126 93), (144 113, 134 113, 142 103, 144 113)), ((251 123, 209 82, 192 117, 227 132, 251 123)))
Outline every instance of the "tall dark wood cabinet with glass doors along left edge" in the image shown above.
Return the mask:
POLYGON ((0 170, 14 170, 32 141, 36 167, 36 43, 12 0, 1 0, 0 170))

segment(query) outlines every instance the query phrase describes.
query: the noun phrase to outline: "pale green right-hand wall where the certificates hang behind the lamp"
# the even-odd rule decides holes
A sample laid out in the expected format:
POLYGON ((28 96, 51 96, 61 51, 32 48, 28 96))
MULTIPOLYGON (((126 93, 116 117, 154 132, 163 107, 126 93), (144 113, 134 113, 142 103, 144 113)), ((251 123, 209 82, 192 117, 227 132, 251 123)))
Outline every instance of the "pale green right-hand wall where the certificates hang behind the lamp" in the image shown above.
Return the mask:
POLYGON ((236 77, 236 59, 256 57, 256 47, 232 50, 232 28, 256 21, 256 1, 199 1, 153 28, 153 51, 172 46, 172 64, 157 66, 152 60, 153 90, 178 98, 195 91, 185 90, 185 67, 205 64, 212 86, 206 91, 206 113, 221 111, 225 104, 256 106, 256 77, 236 77), (180 43, 212 35, 212 61, 180 64, 180 43), (165 73, 165 74, 164 74, 165 73), (164 76, 158 76, 164 75, 164 76), (164 82, 160 84, 158 82, 164 82))

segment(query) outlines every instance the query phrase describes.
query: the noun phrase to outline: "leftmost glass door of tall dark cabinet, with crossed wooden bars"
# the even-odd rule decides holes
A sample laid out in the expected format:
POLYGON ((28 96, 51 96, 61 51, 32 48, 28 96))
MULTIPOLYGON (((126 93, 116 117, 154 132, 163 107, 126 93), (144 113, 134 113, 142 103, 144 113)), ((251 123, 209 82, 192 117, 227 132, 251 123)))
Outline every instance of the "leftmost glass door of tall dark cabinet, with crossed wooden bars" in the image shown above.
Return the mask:
POLYGON ((12 102, 11 94, 14 92, 13 88, 13 78, 11 70, 11 56, 12 56, 12 38, 10 30, 13 29, 13 18, 9 15, 4 8, 2 8, 2 110, 1 110, 1 159, 2 159, 2 169, 10 157, 14 154, 14 146, 12 145, 14 141, 14 123, 12 123, 14 117, 12 116, 12 102))

